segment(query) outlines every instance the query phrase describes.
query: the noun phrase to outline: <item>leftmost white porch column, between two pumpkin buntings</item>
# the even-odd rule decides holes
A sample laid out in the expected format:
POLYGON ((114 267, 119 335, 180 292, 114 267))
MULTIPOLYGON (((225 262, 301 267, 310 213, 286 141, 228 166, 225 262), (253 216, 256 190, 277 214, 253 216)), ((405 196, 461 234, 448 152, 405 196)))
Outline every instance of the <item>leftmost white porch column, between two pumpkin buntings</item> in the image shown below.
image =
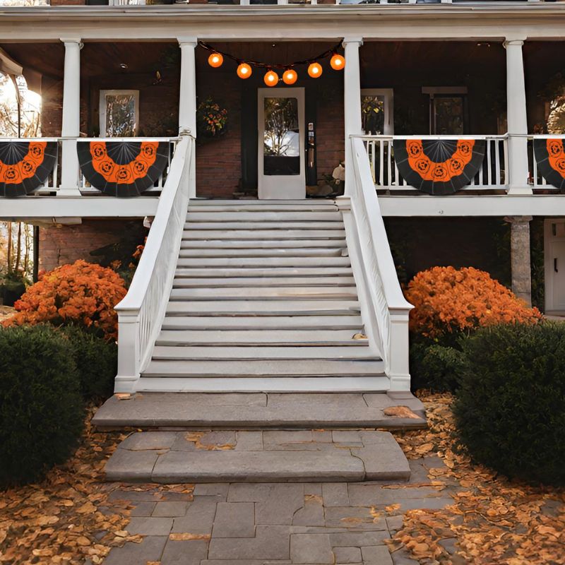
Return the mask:
POLYGON ((81 196, 78 191, 76 138, 81 133, 81 48, 78 37, 61 37, 65 44, 63 123, 61 126, 61 186, 58 196, 81 196))

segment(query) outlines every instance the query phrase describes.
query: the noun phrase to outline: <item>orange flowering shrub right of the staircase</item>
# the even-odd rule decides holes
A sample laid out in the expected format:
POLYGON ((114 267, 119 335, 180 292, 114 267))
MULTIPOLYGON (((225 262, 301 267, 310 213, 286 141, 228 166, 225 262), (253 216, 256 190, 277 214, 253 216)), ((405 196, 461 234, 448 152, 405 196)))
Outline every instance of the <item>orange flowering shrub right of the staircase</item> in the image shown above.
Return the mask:
POLYGON ((497 323, 536 323, 542 317, 489 273, 472 267, 422 270, 405 295, 415 307, 410 331, 432 339, 497 323))

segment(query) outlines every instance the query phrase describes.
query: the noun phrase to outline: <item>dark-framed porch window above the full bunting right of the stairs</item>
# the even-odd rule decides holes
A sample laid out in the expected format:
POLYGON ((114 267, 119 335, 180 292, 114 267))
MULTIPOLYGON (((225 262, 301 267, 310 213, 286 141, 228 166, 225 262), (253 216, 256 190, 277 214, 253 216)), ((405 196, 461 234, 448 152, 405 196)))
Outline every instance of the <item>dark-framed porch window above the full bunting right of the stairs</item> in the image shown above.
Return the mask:
POLYGON ((467 88, 424 87, 429 95, 429 133, 456 136, 468 131, 467 88))

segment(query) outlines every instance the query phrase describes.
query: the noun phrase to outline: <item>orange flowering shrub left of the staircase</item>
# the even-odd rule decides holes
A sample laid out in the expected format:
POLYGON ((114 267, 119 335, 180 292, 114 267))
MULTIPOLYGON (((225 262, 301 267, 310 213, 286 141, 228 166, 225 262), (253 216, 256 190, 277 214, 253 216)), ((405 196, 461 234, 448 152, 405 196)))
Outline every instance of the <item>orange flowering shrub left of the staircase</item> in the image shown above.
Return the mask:
POLYGON ((118 335, 114 306, 126 295, 124 280, 110 268, 76 261, 45 273, 14 304, 16 314, 4 326, 49 322, 76 324, 107 340, 118 335))

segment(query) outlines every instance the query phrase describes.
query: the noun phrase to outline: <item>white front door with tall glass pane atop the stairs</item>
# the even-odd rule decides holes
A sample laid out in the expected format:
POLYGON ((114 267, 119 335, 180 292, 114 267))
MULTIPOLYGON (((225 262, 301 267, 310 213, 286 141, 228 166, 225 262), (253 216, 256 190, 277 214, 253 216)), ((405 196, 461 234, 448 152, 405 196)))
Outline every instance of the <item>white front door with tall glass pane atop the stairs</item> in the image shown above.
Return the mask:
POLYGON ((306 198, 305 169, 304 88, 259 88, 259 198, 306 198))

